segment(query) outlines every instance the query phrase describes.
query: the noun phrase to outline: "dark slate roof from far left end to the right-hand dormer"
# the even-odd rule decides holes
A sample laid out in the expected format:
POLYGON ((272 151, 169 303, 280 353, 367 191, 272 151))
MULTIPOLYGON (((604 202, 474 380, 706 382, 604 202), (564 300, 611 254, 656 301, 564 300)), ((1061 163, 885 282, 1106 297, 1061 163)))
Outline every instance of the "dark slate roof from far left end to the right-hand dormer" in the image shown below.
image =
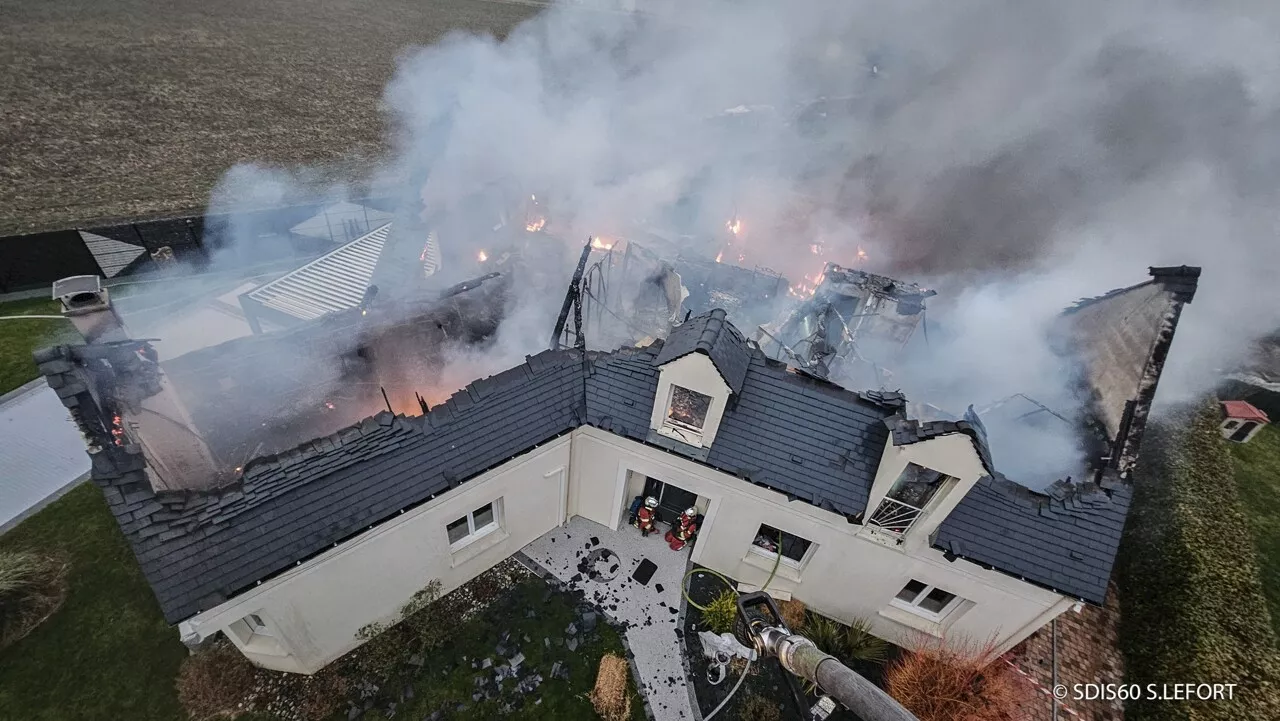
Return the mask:
MULTIPOLYGON (((691 323, 699 334, 708 325, 691 323)), ((721 334, 737 336, 724 327, 721 334)), ((746 356, 736 371, 741 393, 710 453, 666 450, 794 499, 861 512, 888 439, 883 420, 901 409, 901 396, 852 393, 745 343, 730 347, 746 356)), ((165 619, 178 622, 580 425, 646 442, 663 352, 660 341, 585 359, 576 350, 545 351, 474 382, 425 416, 379 414, 257 458, 233 487, 160 494, 136 448, 115 446, 92 417, 93 400, 70 362, 76 351, 50 348, 40 359, 64 403, 90 411, 77 420, 99 439, 93 479, 165 619)))

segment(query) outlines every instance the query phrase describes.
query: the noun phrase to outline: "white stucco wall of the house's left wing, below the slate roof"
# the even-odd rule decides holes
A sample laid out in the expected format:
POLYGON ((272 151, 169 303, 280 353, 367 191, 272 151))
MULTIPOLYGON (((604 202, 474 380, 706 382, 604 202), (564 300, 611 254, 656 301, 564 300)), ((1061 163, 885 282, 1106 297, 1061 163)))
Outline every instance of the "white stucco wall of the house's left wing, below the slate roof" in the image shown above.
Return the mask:
POLYGON ((431 579, 452 590, 559 525, 568 465, 566 435, 189 619, 183 633, 207 638, 256 613, 275 644, 228 638, 268 668, 315 672, 360 645, 361 626, 394 620, 431 579), (451 552, 445 524, 499 498, 500 530, 451 552))

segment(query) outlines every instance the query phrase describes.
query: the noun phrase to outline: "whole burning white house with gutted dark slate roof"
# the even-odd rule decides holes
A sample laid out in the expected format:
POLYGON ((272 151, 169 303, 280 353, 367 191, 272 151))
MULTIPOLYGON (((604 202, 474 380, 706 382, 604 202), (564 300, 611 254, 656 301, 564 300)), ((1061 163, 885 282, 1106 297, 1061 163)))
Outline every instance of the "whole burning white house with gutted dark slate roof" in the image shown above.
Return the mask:
MULTIPOLYGON (((174 362, 124 334, 105 291, 60 286, 86 344, 36 360, 184 640, 225 633, 257 665, 314 672, 429 580, 456 588, 573 517, 625 528, 632 498, 658 493, 703 516, 691 560, 742 588, 768 583, 824 615, 869 619, 901 644, 951 633, 1007 649, 1103 601, 1128 474, 1199 270, 1153 268, 1061 316, 1096 453, 1044 492, 1001 474, 977 414, 923 419, 901 393, 815 371, 870 352, 863 338, 900 344, 929 295, 835 266, 827 289, 771 330, 795 355, 780 360, 732 314, 694 304, 776 311, 785 279, 589 243, 556 347, 442 402, 417 397, 433 343, 495 323, 507 270, 493 273, 429 298, 379 293, 276 341, 174 362), (721 274, 732 292, 709 287, 721 274), (599 333, 613 315, 614 336, 599 333), (614 344, 600 348, 600 336, 614 344), (273 342, 338 353, 340 382, 316 382, 298 353, 302 365, 270 370, 293 378, 288 393, 228 403, 260 396, 247 369, 273 342), (352 403, 334 387, 366 391, 352 403), (298 420, 278 423, 280 409, 298 420)), ((659 505, 659 520, 673 508, 659 505)))

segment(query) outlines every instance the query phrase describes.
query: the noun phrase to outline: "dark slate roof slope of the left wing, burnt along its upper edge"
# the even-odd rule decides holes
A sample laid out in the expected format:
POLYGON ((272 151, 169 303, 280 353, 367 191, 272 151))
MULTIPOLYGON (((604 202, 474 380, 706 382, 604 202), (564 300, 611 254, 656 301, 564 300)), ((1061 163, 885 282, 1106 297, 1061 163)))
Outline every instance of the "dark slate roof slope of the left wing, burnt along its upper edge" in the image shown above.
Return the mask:
POLYGON ((111 442, 73 364, 56 348, 50 353, 42 370, 95 439, 91 476, 172 624, 554 439, 581 417, 581 356, 547 351, 472 383, 426 416, 383 412, 255 460, 233 487, 154 493, 141 452, 111 442))

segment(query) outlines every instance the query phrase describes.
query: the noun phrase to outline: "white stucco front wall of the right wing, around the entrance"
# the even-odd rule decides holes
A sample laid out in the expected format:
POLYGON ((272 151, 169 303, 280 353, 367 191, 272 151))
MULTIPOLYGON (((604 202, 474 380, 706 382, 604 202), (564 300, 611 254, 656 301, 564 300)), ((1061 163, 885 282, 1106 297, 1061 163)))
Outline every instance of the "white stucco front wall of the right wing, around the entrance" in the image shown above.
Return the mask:
MULTIPOLYGON (((965 441, 968 442, 968 441, 965 441)), ((936 446, 941 452, 948 444, 936 446)), ((604 484, 625 483, 627 471, 678 485, 707 499, 707 519, 692 549, 692 560, 741 583, 763 584, 772 561, 750 553, 762 523, 792 533, 815 546, 804 566, 780 566, 769 590, 783 590, 810 608, 849 621, 867 619, 873 633, 902 645, 920 634, 993 640, 997 651, 1012 647, 1071 606, 1071 601, 1018 579, 988 571, 964 560, 947 562, 940 551, 906 552, 858 535, 860 525, 721 474, 692 461, 584 428, 575 432, 570 484, 577 488, 576 514, 616 528, 625 512, 626 490, 612 493, 604 484), (942 624, 918 619, 890 606, 911 579, 946 589, 966 601, 942 624)), ((946 469, 938 469, 946 470, 946 469)), ((959 469, 956 469, 959 470, 959 469)))

